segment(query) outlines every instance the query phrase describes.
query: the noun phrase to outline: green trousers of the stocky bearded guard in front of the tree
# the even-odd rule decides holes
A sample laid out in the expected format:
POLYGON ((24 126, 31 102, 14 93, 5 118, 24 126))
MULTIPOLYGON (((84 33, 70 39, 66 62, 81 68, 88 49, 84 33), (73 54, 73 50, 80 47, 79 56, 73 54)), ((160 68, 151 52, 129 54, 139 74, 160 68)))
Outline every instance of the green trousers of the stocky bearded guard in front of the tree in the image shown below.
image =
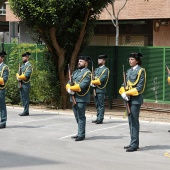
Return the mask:
POLYGON ((74 116, 78 124, 78 136, 79 137, 85 137, 86 106, 87 106, 87 102, 77 102, 76 105, 73 106, 74 116))

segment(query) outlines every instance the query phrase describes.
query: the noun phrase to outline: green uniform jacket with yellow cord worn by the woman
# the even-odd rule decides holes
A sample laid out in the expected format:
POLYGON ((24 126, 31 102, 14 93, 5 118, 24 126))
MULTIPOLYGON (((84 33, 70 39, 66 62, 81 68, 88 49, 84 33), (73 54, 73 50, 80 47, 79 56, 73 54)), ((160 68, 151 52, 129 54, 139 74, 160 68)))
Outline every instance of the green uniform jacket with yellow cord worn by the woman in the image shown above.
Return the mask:
MULTIPOLYGON (((138 77, 139 70, 141 69, 140 66, 138 66, 135 70, 132 71, 132 69, 127 70, 127 76, 126 81, 130 80, 132 83, 134 83, 138 77)), ((133 87, 136 88, 138 93, 140 93, 145 88, 145 70, 142 71, 138 83, 133 87)), ((143 96, 142 94, 139 94, 138 96, 130 96, 130 102, 132 104, 143 104, 143 96)))

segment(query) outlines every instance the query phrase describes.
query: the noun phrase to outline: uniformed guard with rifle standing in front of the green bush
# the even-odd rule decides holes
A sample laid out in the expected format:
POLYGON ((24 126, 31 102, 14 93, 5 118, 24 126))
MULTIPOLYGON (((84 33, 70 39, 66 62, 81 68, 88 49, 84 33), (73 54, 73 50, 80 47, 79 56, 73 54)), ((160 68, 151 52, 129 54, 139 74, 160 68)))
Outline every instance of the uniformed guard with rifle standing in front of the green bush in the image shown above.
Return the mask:
POLYGON ((20 90, 20 96, 22 105, 24 107, 24 110, 22 113, 20 113, 20 116, 28 116, 29 115, 29 92, 30 92, 30 79, 32 75, 32 65, 29 62, 30 53, 26 52, 22 54, 22 61, 23 64, 18 70, 18 73, 16 74, 17 80, 18 80, 18 87, 20 90))

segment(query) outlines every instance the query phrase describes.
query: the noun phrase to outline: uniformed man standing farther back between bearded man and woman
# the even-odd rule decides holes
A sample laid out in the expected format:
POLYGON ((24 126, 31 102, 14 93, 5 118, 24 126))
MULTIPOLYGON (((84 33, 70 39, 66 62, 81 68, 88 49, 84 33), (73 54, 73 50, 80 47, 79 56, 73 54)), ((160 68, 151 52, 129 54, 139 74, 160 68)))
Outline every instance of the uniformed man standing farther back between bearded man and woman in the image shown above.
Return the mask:
POLYGON ((104 99, 106 94, 106 85, 109 80, 109 68, 105 66, 107 55, 98 56, 99 67, 94 71, 94 78, 92 79, 92 87, 94 92, 94 101, 97 110, 97 118, 92 123, 102 124, 104 119, 104 99))

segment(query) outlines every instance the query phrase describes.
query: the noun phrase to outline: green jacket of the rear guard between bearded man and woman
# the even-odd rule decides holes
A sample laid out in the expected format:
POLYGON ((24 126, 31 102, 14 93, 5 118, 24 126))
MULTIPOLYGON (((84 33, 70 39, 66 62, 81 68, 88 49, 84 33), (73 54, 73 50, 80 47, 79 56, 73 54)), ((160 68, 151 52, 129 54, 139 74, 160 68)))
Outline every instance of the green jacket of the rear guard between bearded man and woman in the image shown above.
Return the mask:
POLYGON ((101 85, 96 86, 96 93, 106 93, 106 85, 109 79, 109 69, 106 66, 98 67, 94 71, 95 78, 99 78, 101 85))

